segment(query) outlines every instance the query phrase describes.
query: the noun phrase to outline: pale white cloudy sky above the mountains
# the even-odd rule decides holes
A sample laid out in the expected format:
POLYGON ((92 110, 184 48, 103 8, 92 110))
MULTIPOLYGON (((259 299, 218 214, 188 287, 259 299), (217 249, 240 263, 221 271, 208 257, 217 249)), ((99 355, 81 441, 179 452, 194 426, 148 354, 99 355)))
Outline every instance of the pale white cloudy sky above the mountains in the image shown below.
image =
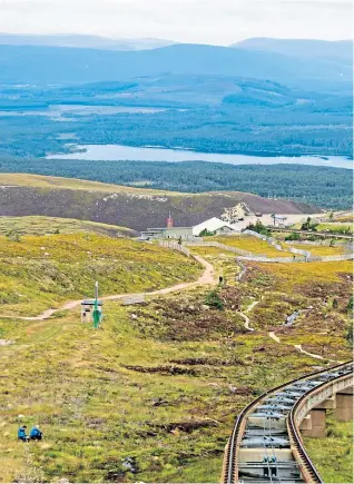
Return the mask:
POLYGON ((352 0, 0 0, 0 32, 229 45, 351 39, 352 0))

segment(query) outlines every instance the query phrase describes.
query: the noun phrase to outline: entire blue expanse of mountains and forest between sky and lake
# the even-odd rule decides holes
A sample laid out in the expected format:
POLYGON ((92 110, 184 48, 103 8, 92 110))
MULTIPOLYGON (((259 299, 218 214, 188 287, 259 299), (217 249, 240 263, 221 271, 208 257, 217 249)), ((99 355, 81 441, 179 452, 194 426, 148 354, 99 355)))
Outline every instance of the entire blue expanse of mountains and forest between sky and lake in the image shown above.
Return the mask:
POLYGON ((134 50, 95 37, 66 42, 0 45, 0 161, 67 152, 71 137, 77 145, 216 154, 353 152, 351 42, 249 39, 144 50, 155 41, 130 43, 134 50))

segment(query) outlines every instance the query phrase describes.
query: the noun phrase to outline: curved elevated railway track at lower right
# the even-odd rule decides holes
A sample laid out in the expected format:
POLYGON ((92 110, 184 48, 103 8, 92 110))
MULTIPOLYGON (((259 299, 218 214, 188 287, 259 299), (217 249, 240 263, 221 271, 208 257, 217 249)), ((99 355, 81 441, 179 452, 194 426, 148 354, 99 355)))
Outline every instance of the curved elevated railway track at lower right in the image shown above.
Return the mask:
POLYGON ((323 483, 299 424, 308 412, 306 403, 315 407, 319 392, 328 398, 333 384, 346 385, 352 376, 353 362, 340 364, 273 388, 247 405, 225 450, 222 483, 323 483))

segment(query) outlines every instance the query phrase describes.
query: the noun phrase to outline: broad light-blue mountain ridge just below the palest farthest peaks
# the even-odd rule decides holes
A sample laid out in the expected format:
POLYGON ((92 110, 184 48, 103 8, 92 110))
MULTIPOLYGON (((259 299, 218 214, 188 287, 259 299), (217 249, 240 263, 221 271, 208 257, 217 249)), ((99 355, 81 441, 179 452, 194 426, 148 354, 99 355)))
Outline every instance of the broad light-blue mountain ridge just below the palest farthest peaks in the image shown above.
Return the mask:
POLYGON ((116 52, 0 46, 1 83, 69 85, 160 76, 164 72, 254 77, 316 90, 350 88, 352 79, 351 66, 342 61, 216 46, 186 43, 116 52))

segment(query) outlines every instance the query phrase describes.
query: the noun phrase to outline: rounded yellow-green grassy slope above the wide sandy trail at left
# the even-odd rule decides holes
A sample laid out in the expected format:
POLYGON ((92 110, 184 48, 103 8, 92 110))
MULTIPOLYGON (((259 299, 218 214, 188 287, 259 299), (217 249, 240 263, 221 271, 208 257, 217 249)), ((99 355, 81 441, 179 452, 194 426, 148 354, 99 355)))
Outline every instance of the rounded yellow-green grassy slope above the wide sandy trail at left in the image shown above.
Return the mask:
POLYGON ((158 246, 96 234, 0 236, 0 303, 8 315, 38 315, 60 302, 139 293, 194 280, 193 259, 158 246))

